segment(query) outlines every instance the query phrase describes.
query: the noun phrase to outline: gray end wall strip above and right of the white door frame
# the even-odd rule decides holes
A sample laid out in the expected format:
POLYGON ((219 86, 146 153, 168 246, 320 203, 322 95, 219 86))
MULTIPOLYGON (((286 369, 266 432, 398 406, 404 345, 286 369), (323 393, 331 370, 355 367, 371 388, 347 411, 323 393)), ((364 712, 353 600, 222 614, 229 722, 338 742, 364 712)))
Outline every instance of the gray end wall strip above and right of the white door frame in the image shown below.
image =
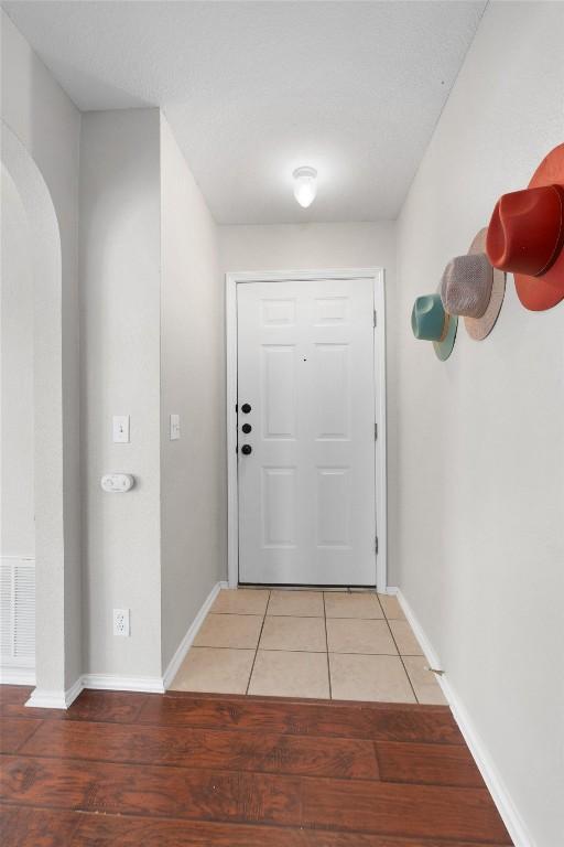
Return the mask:
MULTIPOLYGON (((352 224, 219 226, 221 274, 236 270, 386 269, 388 385, 388 524, 397 523, 397 290, 392 221, 352 224)), ((225 417, 225 414, 224 414, 225 417)), ((398 585, 397 544, 388 534, 388 582, 398 585)))

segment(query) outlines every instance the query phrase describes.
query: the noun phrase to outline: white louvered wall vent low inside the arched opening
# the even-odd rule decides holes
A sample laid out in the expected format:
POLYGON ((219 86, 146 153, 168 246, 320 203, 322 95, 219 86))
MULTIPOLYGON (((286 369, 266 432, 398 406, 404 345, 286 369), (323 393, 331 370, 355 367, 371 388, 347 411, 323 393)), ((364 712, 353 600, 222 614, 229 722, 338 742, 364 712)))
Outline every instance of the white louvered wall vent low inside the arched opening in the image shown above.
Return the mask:
POLYGON ((0 664, 35 666, 35 559, 2 556, 0 664))

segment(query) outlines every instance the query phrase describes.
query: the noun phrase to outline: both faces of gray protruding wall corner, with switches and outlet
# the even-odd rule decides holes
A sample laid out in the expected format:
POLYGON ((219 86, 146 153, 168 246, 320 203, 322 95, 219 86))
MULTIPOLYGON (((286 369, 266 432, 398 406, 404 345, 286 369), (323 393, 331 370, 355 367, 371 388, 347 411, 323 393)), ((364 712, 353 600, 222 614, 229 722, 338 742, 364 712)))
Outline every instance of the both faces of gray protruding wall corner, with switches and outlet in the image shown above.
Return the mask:
POLYGON ((158 687, 226 569, 216 225, 159 109, 85 114, 80 153, 84 669, 158 687), (134 487, 102 492, 109 471, 134 487))

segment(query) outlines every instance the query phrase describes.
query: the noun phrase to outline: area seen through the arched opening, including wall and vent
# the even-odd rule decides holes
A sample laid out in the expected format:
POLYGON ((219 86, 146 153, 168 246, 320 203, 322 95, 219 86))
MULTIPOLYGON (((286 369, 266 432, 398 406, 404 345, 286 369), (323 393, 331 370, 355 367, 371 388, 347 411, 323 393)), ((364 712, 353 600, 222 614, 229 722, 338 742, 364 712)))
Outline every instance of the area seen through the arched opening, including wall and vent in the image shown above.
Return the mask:
POLYGON ((3 679, 34 685, 33 278, 28 216, 3 164, 0 192, 0 662, 3 679))

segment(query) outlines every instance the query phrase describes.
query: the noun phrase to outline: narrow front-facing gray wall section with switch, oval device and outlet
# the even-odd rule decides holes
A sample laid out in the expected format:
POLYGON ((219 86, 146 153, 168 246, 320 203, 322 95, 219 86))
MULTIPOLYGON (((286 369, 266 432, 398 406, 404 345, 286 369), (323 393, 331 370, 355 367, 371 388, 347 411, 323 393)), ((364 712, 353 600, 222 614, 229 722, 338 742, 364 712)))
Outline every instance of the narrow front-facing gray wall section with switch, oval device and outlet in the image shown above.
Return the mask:
POLYGON ((85 671, 161 675, 158 109, 88 112, 80 143, 85 671), (131 440, 112 442, 112 416, 131 440), (108 471, 133 473, 107 494, 108 471), (131 611, 131 637, 112 610, 131 611))

